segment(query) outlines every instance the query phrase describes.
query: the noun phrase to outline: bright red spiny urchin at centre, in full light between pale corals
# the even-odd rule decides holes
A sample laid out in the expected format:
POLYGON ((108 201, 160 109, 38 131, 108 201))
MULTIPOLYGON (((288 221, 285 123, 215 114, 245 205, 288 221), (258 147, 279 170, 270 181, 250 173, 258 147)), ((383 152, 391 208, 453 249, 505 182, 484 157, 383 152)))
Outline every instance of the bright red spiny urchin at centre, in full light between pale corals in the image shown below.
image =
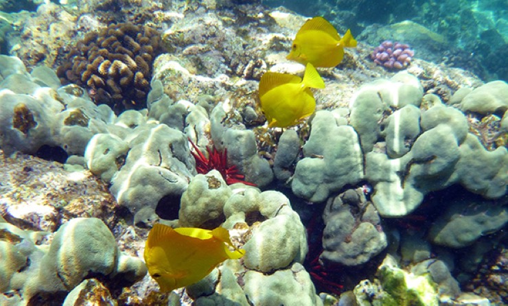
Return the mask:
POLYGON ((244 183, 245 185, 255 186, 254 183, 249 183, 244 180, 245 176, 240 174, 238 168, 235 165, 228 167, 227 165, 227 149, 224 149, 224 152, 219 152, 214 146, 210 148, 207 146, 208 158, 198 149, 198 146, 195 145, 190 139, 189 142, 192 145, 192 148, 196 150, 193 152, 191 150, 192 156, 196 159, 196 171, 199 174, 207 174, 213 169, 216 169, 222 175, 222 178, 226 181, 227 185, 231 185, 234 183, 244 183))

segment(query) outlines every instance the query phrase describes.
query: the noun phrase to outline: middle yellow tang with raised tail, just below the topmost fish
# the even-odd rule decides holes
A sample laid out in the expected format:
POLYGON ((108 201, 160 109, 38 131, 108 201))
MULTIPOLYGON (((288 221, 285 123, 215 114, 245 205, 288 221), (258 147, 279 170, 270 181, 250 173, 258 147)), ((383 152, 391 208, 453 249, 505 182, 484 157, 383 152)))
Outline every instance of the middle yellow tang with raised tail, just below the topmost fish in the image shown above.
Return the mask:
POLYGON ((286 128, 308 117, 316 109, 310 87, 325 88, 325 82, 312 64, 305 68, 303 80, 297 75, 267 72, 259 80, 259 100, 268 127, 286 128))

